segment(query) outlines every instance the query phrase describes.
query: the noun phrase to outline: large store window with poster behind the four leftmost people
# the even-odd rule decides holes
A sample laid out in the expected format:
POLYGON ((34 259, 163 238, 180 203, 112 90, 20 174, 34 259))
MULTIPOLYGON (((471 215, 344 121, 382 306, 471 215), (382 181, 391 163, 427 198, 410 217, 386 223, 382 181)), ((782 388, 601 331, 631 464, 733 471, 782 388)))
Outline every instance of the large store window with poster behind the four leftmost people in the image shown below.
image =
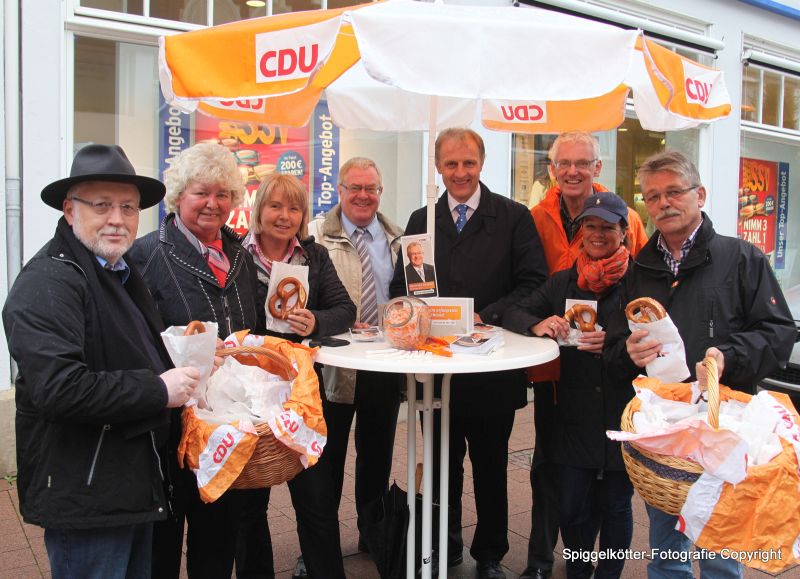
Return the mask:
MULTIPOLYGON (((296 175, 308 187, 312 216, 318 216, 338 201, 338 168, 353 156, 370 157, 381 168, 381 211, 390 219, 405 224, 420 206, 420 133, 340 131, 324 103, 310 125, 300 128, 185 115, 161 96, 155 46, 76 36, 74 54, 74 148, 117 143, 137 172, 160 178, 170 159, 196 142, 229 147, 249 191, 228 219, 240 233, 265 174, 296 175)), ((159 218, 158 208, 142 212, 139 234, 155 230, 159 218)))

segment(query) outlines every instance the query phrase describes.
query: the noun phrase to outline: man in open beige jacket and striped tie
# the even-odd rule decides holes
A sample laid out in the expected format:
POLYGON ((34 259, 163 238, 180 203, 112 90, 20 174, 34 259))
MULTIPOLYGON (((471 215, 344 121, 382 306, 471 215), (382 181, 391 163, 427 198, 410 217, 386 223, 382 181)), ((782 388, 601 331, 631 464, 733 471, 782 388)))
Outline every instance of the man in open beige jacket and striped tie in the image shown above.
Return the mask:
MULTIPOLYGON (((378 323, 378 307, 389 300, 389 282, 403 230, 378 212, 381 172, 374 161, 354 157, 339 170, 339 199, 324 219, 309 224, 309 234, 328 248, 336 272, 358 308, 356 327, 378 323)), ((326 367, 325 420, 330 460, 342 496, 347 442, 356 421, 356 510, 359 529, 364 505, 389 485, 392 448, 400 406, 400 376, 385 372, 326 367)), ((363 536, 358 548, 367 550, 363 536)))

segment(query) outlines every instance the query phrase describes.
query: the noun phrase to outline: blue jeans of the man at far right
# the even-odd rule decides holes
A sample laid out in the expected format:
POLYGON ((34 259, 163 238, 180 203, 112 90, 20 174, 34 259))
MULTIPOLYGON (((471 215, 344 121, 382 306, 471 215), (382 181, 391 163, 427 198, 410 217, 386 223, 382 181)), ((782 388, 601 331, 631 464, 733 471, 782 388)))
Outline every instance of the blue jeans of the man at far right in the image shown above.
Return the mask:
MULTIPOLYGON (((692 561, 688 556, 683 559, 670 558, 688 554, 692 548, 692 542, 683 533, 675 530, 678 517, 668 515, 655 507, 647 506, 647 516, 650 519, 650 548, 657 549, 653 558, 647 565, 648 579, 693 579, 692 561)), ((701 558, 700 577, 701 579, 741 579, 742 566, 735 559, 723 559, 719 553, 708 552, 706 557, 701 558)))

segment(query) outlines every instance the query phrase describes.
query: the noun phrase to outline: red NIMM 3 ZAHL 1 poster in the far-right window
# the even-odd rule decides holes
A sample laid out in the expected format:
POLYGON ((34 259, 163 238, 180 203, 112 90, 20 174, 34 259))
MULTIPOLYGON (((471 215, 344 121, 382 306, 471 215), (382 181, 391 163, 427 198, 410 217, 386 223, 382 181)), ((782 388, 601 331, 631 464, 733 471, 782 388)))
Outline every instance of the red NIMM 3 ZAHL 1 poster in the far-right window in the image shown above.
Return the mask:
POLYGON ((739 172, 737 235, 775 259, 778 163, 742 158, 739 172))

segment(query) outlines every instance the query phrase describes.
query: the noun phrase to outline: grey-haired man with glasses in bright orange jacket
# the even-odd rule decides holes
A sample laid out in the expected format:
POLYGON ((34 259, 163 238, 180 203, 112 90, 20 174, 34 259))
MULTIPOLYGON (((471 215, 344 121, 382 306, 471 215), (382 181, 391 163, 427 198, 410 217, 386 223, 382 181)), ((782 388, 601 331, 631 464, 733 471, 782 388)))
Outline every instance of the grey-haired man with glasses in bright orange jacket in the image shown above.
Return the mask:
MULTIPOLYGON (((581 250, 583 235, 578 215, 589 195, 608 191, 594 179, 600 176, 603 162, 600 145, 590 133, 562 133, 550 147, 550 173, 557 181, 544 199, 531 209, 542 240, 549 275, 572 266, 581 250)), ((628 208, 628 250, 636 255, 647 243, 639 214, 628 208)), ((555 414, 555 381, 558 360, 531 368, 533 417, 536 445, 531 465, 531 535, 528 566, 520 579, 544 579, 553 568, 553 550, 558 540, 558 469, 549 456, 555 414)))

